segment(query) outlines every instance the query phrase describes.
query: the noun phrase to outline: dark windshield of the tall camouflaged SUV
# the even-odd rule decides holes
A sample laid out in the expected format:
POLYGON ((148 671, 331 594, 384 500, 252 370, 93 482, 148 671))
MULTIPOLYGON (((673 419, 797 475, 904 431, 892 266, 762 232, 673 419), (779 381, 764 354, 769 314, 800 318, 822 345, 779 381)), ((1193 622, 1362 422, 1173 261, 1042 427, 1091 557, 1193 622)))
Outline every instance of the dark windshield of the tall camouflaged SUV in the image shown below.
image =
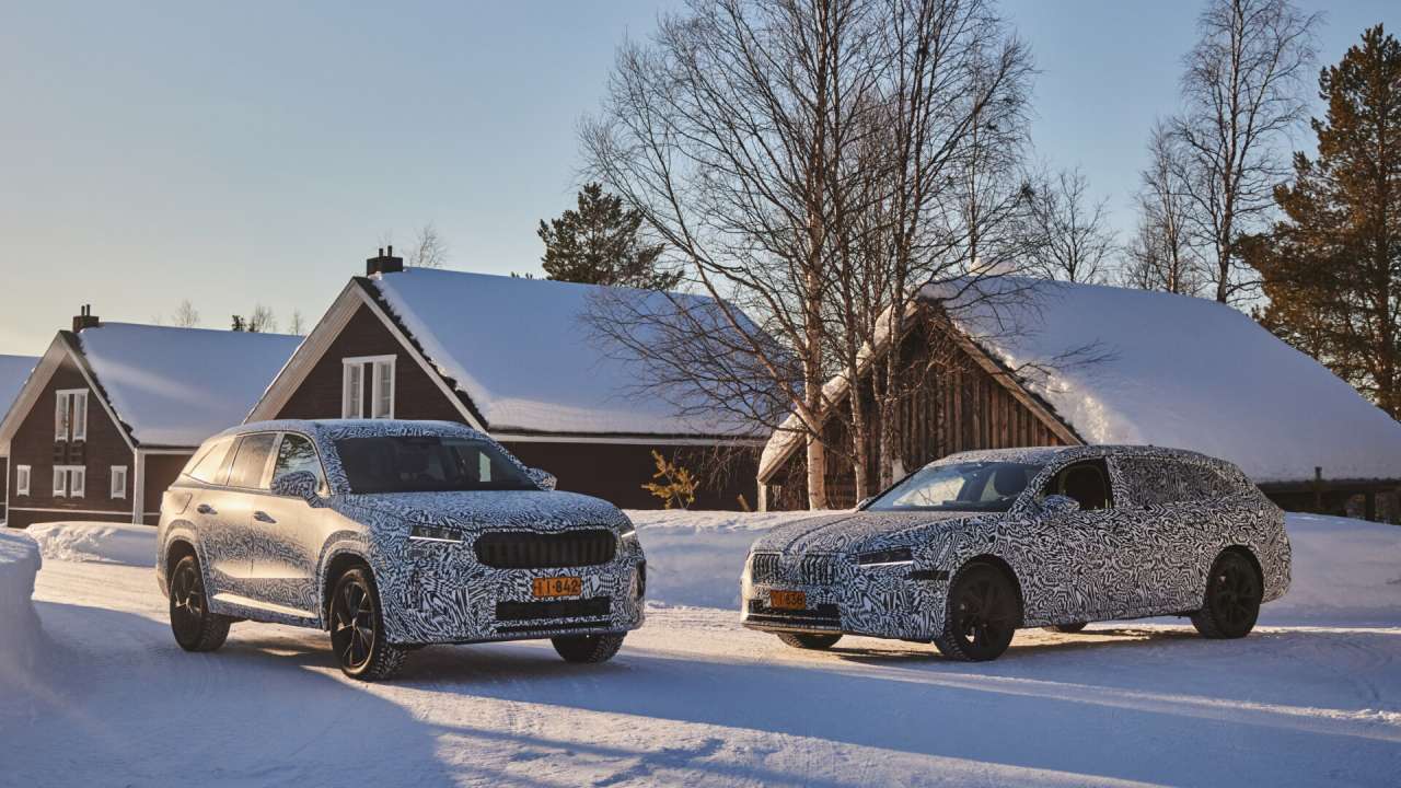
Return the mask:
POLYGON ((469 437, 345 437, 336 453, 350 492, 538 489, 500 449, 469 437))

